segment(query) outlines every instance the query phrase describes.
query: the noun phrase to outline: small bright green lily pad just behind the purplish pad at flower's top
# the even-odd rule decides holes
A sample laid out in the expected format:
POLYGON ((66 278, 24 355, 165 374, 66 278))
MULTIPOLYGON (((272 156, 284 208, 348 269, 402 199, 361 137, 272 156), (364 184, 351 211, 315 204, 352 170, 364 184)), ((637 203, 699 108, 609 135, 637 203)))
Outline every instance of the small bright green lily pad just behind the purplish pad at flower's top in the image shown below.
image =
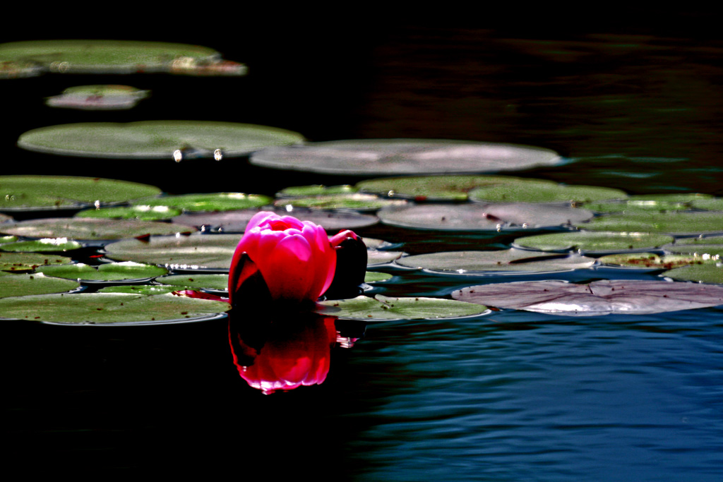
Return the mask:
POLYGON ((183 194, 142 199, 136 204, 145 206, 168 206, 176 209, 196 211, 231 211, 269 205, 273 199, 260 194, 242 192, 216 192, 210 194, 183 194))

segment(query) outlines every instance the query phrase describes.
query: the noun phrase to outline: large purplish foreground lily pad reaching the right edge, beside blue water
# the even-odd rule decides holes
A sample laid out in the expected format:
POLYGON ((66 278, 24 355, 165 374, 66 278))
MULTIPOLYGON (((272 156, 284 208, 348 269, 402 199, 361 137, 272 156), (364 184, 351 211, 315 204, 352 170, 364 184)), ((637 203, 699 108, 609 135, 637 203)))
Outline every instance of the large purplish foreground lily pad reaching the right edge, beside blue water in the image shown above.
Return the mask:
POLYGON ((723 286, 645 280, 600 280, 589 284, 521 281, 471 286, 452 298, 498 308, 566 317, 652 314, 723 304, 723 286))

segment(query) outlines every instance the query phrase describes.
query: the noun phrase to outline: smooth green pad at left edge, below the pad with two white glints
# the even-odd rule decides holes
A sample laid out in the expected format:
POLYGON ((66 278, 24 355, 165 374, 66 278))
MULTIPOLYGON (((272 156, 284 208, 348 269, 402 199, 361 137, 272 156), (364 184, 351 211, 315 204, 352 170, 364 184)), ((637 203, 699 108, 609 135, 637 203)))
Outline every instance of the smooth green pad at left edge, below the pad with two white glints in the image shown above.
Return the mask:
POLYGON ((147 184, 71 176, 0 176, 0 210, 87 207, 161 194, 147 184))

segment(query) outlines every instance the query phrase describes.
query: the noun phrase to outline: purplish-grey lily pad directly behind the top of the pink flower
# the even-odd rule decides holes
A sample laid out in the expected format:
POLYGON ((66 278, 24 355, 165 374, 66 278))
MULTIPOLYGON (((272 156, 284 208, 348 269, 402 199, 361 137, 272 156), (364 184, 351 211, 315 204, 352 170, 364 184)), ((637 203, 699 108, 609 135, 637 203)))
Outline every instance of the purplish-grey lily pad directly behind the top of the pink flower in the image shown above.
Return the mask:
MULTIPOLYGON (((265 209, 265 211, 275 212, 280 216, 290 215, 301 220, 309 220, 317 225, 322 225, 326 231, 336 233, 340 229, 358 229, 375 225, 379 222, 379 218, 375 215, 361 214, 359 212, 331 212, 322 210, 302 210, 302 209, 265 209)), ((243 233, 249 220, 259 210, 240 210, 228 212, 200 212, 186 214, 174 218, 175 223, 183 223, 194 225, 197 227, 208 227, 210 229, 221 230, 232 233, 243 233)), ((0 227, 1 229, 1 227, 0 227)))

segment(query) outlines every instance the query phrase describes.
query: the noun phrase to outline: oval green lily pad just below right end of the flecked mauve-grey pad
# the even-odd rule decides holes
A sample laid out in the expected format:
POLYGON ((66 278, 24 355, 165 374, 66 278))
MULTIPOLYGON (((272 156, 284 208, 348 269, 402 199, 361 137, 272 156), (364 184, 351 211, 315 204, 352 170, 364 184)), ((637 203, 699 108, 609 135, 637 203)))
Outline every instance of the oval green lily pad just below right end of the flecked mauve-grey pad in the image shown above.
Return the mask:
POLYGON ((592 233, 570 231, 568 233, 526 236, 515 240, 517 246, 541 251, 570 251, 604 253, 628 249, 651 249, 672 241, 672 237, 651 233, 592 233))

